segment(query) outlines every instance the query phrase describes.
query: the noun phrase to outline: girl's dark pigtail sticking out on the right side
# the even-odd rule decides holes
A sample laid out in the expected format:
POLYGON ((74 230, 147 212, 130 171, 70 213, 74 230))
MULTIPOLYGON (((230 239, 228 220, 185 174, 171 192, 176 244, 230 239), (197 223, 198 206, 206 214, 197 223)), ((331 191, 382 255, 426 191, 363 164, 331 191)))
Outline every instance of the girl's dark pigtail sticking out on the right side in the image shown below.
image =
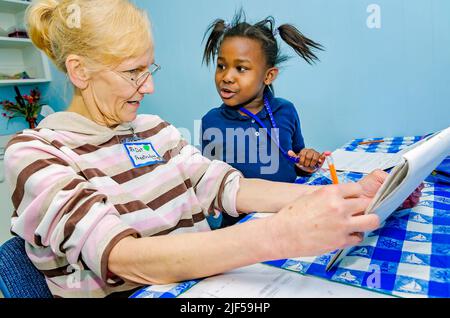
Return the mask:
POLYGON ((319 58, 312 49, 323 51, 323 46, 304 36, 296 27, 283 24, 278 28, 279 34, 284 42, 292 47, 308 64, 318 61, 319 58))

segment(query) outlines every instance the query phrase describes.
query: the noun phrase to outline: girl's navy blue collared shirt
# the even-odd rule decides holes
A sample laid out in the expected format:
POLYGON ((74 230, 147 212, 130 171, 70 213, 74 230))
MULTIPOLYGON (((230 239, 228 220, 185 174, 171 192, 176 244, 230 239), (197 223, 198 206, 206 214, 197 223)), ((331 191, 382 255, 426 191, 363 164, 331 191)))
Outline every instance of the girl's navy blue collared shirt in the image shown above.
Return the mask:
MULTIPOLYGON (((275 98, 268 90, 266 96, 279 129, 281 147, 299 153, 305 143, 295 106, 275 98)), ((256 115, 268 129, 273 128, 265 107, 256 115)), ((281 153, 265 131, 253 118, 241 115, 238 108, 222 104, 202 118, 203 155, 227 162, 246 178, 294 182, 297 178, 294 163, 281 153)))

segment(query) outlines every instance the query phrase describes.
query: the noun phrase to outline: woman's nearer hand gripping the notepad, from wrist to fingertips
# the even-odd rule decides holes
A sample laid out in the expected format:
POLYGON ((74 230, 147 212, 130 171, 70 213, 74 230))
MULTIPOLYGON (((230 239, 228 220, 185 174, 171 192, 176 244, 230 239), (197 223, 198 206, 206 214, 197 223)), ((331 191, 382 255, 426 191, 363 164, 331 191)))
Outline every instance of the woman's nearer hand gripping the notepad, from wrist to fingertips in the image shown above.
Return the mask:
MULTIPOLYGON (((375 214, 363 215, 377 186, 367 184, 327 186, 302 196, 274 215, 269 227, 281 258, 316 256, 361 242, 358 232, 379 227, 375 214)), ((381 178, 381 176, 380 176, 381 178)), ((379 186, 378 186, 379 187, 379 186)))

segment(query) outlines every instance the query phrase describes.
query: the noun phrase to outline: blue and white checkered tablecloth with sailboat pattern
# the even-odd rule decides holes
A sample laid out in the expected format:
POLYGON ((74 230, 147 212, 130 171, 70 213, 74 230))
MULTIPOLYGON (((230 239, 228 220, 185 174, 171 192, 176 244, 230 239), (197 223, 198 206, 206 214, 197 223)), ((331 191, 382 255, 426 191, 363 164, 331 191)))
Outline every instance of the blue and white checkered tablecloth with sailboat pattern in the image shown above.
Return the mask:
MULTIPOLYGON (((342 149, 396 153, 420 139, 355 139, 342 149), (359 144, 368 140, 384 141, 359 144)), ((356 182, 363 174, 341 172, 338 177, 340 182, 356 182)), ((394 212, 329 272, 325 267, 334 253, 264 264, 399 297, 450 297, 450 186, 433 181, 431 176, 425 180, 416 207, 394 212)), ((321 170, 297 183, 329 184, 331 180, 329 173, 321 170)), ((199 281, 148 286, 132 297, 177 297, 199 281)))

